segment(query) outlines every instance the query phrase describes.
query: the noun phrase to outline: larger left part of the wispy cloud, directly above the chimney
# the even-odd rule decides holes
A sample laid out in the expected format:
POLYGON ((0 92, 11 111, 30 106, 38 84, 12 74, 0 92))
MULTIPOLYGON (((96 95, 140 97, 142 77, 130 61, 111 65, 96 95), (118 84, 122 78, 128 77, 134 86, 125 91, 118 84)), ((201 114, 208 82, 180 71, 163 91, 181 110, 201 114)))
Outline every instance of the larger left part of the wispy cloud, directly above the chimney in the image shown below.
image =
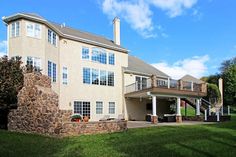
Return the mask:
POLYGON ((155 34, 151 33, 153 30, 152 12, 144 0, 137 0, 135 2, 104 0, 102 8, 103 12, 111 18, 115 16, 124 18, 143 37, 149 38, 155 36, 155 34))

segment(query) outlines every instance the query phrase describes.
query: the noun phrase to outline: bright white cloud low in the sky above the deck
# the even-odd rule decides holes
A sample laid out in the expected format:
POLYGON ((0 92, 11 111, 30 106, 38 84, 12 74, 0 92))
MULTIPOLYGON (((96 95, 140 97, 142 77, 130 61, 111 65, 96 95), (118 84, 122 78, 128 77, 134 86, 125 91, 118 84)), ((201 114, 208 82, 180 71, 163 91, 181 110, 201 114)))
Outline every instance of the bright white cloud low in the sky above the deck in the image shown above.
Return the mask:
POLYGON ((177 61, 173 64, 167 62, 159 62, 152 64, 157 69, 165 72, 174 79, 180 79, 186 74, 200 78, 207 73, 206 62, 209 60, 208 55, 194 56, 177 61))

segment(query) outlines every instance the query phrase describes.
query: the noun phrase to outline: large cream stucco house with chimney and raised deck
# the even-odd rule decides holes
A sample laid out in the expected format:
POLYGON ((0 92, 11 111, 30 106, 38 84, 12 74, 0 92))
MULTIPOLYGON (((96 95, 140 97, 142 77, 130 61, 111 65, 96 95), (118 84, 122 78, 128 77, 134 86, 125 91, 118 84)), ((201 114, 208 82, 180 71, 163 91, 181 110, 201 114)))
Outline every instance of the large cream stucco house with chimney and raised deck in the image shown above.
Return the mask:
POLYGON ((28 13, 3 17, 7 26, 8 56, 21 56, 51 78, 59 95, 59 107, 73 110, 91 121, 105 115, 145 120, 170 112, 176 102, 181 121, 181 98, 194 98, 197 115, 204 82, 188 77, 173 80, 144 61, 128 55, 120 45, 120 20, 115 18, 114 40, 83 32, 65 24, 49 22, 28 13), (175 101, 174 101, 175 102, 175 101))

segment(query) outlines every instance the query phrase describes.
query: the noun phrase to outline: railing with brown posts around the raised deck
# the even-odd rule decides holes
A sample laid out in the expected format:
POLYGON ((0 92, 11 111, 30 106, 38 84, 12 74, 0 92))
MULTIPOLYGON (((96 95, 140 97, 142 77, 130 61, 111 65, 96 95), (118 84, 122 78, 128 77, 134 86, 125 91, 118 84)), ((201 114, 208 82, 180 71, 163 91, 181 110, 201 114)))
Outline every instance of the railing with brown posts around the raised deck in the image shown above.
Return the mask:
POLYGON ((183 80, 161 78, 153 75, 148 79, 135 82, 133 84, 126 86, 125 93, 141 91, 147 88, 166 88, 166 89, 185 90, 185 91, 194 91, 203 93, 206 93, 207 90, 205 83, 197 84, 183 80))

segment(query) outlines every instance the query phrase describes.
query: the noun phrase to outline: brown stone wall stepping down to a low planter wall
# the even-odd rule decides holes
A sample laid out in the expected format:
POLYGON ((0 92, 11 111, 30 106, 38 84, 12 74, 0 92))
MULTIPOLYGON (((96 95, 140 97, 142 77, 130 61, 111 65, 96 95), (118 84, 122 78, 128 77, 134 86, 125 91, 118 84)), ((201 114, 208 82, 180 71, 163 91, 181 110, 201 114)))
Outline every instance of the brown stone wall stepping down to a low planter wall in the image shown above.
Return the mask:
POLYGON ((18 107, 8 115, 8 130, 46 135, 108 133, 127 129, 126 121, 70 122, 71 110, 59 110, 51 81, 39 73, 24 74, 18 107))

